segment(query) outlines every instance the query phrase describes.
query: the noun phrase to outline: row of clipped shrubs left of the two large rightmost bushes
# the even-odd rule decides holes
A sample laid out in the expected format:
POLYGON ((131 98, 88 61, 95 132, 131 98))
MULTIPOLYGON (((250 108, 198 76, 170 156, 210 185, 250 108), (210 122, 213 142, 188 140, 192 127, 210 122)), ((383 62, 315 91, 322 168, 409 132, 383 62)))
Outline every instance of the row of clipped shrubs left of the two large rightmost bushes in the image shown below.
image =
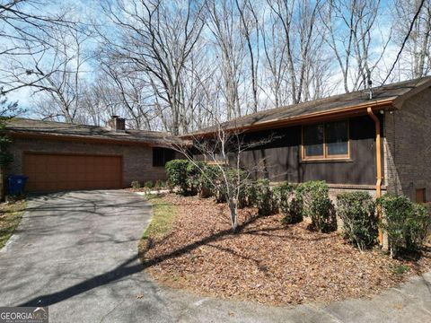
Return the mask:
POLYGON ((286 183, 271 188, 268 179, 247 179, 245 171, 226 167, 222 172, 219 166, 188 160, 167 162, 166 175, 172 186, 178 187, 179 193, 184 196, 215 196, 218 203, 223 203, 226 199, 225 190, 239 188, 238 208, 257 207, 259 215, 281 212, 284 214, 284 223, 298 223, 303 221, 303 217, 309 217, 316 231, 337 230, 329 188, 322 181, 300 185, 286 183))

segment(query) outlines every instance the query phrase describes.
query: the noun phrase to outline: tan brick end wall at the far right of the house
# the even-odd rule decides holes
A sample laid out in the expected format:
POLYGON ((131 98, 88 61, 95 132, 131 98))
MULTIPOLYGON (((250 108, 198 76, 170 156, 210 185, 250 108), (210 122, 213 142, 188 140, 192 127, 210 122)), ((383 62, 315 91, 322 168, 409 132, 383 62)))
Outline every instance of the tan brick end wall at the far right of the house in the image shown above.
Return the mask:
POLYGON ((402 109, 385 114, 384 177, 388 192, 416 201, 427 189, 431 201, 431 89, 406 100, 402 109))

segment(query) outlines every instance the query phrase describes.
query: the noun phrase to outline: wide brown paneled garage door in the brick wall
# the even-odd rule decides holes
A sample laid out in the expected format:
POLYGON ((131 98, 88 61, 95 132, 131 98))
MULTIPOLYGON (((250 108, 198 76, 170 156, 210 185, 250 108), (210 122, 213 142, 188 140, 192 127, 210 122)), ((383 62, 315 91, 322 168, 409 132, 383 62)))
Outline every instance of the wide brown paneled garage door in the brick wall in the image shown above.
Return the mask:
POLYGON ((26 190, 47 192, 71 189, 121 188, 121 156, 24 153, 26 190))

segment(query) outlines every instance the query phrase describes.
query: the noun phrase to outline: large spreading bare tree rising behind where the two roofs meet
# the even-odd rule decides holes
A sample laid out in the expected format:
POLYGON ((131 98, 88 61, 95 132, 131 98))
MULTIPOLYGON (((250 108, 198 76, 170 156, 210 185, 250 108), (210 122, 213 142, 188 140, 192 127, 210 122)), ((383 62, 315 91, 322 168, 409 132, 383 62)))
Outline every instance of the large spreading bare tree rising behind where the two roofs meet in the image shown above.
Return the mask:
POLYGON ((104 5, 119 30, 113 38, 104 36, 107 54, 153 89, 155 105, 170 109, 171 119, 164 121, 172 134, 184 132, 187 89, 181 75, 204 26, 202 5, 191 0, 114 3, 104 5))

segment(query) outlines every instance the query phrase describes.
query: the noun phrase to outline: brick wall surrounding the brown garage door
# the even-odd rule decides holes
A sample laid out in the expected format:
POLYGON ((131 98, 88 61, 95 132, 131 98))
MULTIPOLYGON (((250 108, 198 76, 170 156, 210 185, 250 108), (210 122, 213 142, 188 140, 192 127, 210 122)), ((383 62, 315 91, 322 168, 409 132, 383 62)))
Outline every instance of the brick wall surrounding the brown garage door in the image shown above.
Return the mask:
POLYGON ((13 163, 8 173, 22 173, 22 153, 88 153, 112 154, 123 156, 123 187, 130 187, 132 180, 165 179, 163 167, 153 167, 153 149, 151 147, 123 144, 85 144, 54 140, 15 138, 10 147, 13 163))

